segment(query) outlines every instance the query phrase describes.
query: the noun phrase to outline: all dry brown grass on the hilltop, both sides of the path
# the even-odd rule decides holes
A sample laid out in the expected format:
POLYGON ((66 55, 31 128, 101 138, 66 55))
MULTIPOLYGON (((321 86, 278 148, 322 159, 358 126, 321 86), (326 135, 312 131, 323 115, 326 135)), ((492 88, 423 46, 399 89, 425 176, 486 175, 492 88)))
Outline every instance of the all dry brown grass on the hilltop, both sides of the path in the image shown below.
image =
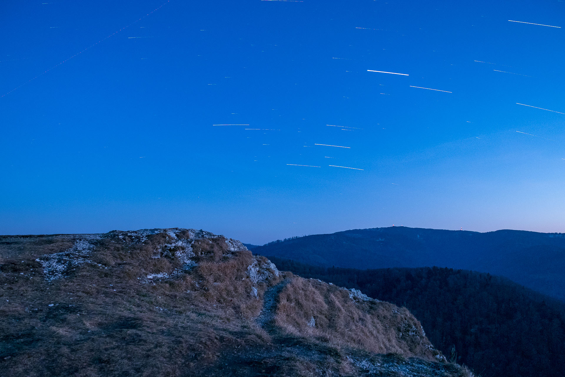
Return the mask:
POLYGON ((341 345, 426 355, 427 340, 412 344, 396 336, 407 324, 419 328, 406 309, 355 304, 337 287, 298 277, 280 294, 276 323, 306 343, 291 339, 281 353, 253 319, 267 285, 278 280, 254 285, 246 275, 254 257, 230 252, 223 237, 195 242, 193 270, 140 283, 147 274, 180 267, 175 258, 152 258, 167 237, 159 233, 145 244, 127 236, 102 239, 89 259, 108 268, 85 263, 52 282, 35 259, 70 248, 72 239, 4 244, 13 249, 0 265, 0 375, 208 376, 222 375, 232 363, 237 367, 229 373, 241 376, 316 375, 328 366, 340 375, 349 371, 341 345), (254 286, 258 297, 250 294, 254 286), (306 325, 312 316, 315 328, 306 325))

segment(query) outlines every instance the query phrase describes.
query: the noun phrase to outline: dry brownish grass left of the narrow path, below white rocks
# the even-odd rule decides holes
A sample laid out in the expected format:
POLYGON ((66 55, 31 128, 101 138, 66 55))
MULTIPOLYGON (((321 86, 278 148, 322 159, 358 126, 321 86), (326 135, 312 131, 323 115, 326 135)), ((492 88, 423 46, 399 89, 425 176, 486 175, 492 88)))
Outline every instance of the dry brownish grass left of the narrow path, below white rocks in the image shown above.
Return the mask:
MULTIPOLYGON (((28 277, 40 270, 34 259, 44 254, 42 246, 28 245, 18 260, 5 260, 0 370, 12 376, 179 375, 212 362, 225 344, 268 341, 246 324, 260 310, 245 279, 251 253, 227 258, 224 239, 211 239, 197 246, 201 265, 189 274, 140 284, 139 276, 179 267, 173 259, 151 258, 164 237, 144 245, 102 240, 90 259, 110 268, 85 264, 51 283, 39 272, 28 277)), ((72 246, 58 244, 63 248, 53 252, 72 246)))

